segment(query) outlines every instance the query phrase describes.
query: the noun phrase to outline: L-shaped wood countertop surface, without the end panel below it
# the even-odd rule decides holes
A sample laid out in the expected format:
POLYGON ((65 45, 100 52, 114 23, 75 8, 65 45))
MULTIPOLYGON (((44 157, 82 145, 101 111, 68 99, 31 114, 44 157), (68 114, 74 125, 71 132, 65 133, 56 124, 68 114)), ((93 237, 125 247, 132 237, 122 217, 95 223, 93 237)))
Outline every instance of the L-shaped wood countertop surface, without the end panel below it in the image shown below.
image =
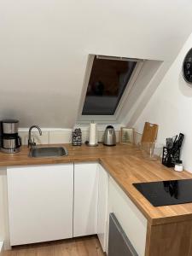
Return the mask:
MULTIPOLYGON (((50 145, 49 145, 50 146, 50 145)), ((22 147, 18 154, 0 153, 0 166, 27 166, 27 165, 49 165, 68 162, 100 161, 108 173, 119 183, 149 223, 166 224, 171 222, 192 220, 192 203, 166 207, 153 207, 132 183, 150 182, 160 180, 172 180, 192 178, 192 173, 174 172, 158 161, 144 160, 139 149, 129 145, 117 145, 116 147, 73 147, 63 145, 68 150, 68 156, 59 158, 30 158, 28 148, 22 147)), ((127 212, 129 217, 129 212, 127 212)))

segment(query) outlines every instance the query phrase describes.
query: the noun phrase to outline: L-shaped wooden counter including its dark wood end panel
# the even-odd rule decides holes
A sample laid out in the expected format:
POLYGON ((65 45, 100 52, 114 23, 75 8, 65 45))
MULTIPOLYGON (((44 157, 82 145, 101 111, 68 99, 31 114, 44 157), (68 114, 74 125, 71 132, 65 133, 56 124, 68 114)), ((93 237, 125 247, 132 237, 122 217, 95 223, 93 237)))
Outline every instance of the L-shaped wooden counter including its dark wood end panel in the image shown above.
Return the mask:
MULTIPOLYGON (((50 146, 50 145, 49 145, 50 146)), ((68 155, 57 158, 31 158, 24 146, 18 154, 0 153, 0 167, 39 166, 65 163, 99 162, 128 199, 147 219, 145 255, 190 255, 192 243, 192 203, 153 207, 132 183, 192 178, 186 171, 174 172, 159 161, 144 160, 140 150, 131 145, 116 147, 73 147, 64 145, 68 155), (167 253, 168 252, 168 253, 167 253)), ((126 212, 129 218, 129 212, 126 212)), ((137 234, 136 234, 137 236, 137 234)))

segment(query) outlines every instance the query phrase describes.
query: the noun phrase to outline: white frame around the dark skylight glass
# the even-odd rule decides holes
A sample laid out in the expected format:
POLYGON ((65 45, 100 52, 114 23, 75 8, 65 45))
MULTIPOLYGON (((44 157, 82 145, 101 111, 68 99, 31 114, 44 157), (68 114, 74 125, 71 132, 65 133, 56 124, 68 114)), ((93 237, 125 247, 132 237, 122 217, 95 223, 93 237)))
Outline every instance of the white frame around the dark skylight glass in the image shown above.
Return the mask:
POLYGON ((87 61, 87 67, 84 75, 84 86, 82 90, 81 95, 81 101, 79 106, 79 116, 78 116, 78 122, 81 124, 87 124, 90 122, 90 120, 94 120, 99 124, 106 124, 108 122, 113 124, 118 124, 119 116, 122 111, 122 109, 125 106, 125 102, 128 100, 128 97, 130 96, 130 92, 132 88, 134 87, 134 84, 137 80, 137 77, 139 73, 142 70, 144 60, 143 59, 131 59, 131 58, 122 58, 122 57, 113 57, 113 56, 104 56, 104 55, 89 55, 88 61, 87 61), (100 59, 108 59, 108 60, 119 60, 119 61, 136 61, 136 67, 134 68, 131 78, 129 79, 128 83, 126 84, 125 90, 123 92, 123 95, 121 96, 119 100, 118 107, 116 108, 113 115, 83 115, 82 111, 84 108, 84 101, 87 93, 88 83, 90 80, 90 73, 93 66, 93 61, 95 56, 100 59))

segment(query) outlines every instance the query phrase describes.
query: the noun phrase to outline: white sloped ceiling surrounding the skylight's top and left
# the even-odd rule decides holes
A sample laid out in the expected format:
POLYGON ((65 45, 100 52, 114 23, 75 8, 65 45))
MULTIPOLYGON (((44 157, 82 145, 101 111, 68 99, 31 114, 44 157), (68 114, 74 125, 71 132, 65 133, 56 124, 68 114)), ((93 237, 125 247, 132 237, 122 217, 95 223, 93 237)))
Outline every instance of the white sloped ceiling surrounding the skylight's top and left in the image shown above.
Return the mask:
POLYGON ((1 0, 0 118, 73 127, 88 55, 164 61, 166 71, 192 30, 191 9, 187 0, 1 0))

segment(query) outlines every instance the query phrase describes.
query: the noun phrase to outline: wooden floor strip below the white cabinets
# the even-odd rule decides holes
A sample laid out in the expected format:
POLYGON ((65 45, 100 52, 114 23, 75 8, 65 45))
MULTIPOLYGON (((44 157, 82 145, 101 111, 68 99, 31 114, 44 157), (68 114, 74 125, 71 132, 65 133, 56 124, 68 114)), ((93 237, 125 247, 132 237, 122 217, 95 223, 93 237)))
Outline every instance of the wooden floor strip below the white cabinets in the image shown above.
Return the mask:
POLYGON ((14 247, 1 256, 103 256, 96 236, 14 247))

